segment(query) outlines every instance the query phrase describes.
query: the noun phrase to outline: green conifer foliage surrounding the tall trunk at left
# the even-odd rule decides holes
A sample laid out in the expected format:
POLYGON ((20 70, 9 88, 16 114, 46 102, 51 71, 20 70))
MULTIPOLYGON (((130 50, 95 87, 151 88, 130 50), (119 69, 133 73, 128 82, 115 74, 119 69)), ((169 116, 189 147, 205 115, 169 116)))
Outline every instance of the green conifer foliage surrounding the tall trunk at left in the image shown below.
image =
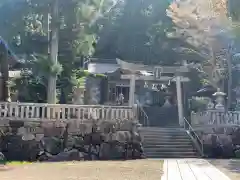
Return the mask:
MULTIPOLYGON (((0 34, 17 54, 23 55, 22 77, 15 82, 22 100, 46 100, 49 75, 57 75, 58 88, 71 93, 78 58, 91 56, 97 42, 99 19, 113 0, 59 0, 59 61, 48 56, 48 14, 52 0, 3 0, 0 2, 0 34), (19 38, 16 38, 19 37, 19 38), (20 43, 15 43, 16 39, 20 43), (18 45, 17 45, 18 44, 18 45), (26 73, 27 72, 27 73, 26 73), (68 88, 64 88, 68 87, 68 88), (39 98, 36 96, 40 96, 39 98)), ((51 22, 50 28, 54 22, 51 22)))

